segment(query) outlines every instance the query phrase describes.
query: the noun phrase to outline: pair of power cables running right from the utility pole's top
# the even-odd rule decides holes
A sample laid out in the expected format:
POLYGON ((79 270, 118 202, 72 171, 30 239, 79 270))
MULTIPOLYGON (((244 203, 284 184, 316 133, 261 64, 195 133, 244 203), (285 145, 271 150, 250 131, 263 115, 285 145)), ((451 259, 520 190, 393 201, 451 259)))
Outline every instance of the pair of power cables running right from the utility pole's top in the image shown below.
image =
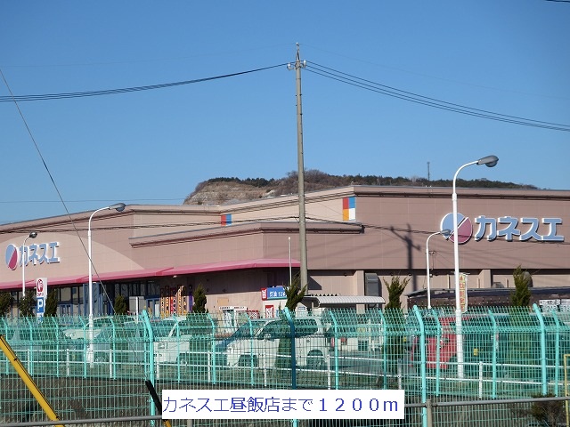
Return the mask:
POLYGON ((442 101, 436 98, 430 98, 428 96, 420 95, 419 93, 411 93, 403 91, 401 89, 397 89, 392 86, 381 85, 371 80, 367 80, 362 77, 356 77, 354 75, 338 71, 337 69, 334 68, 325 67, 316 64, 314 62, 308 62, 306 70, 316 75, 327 77, 332 80, 336 80, 340 83, 344 83, 346 85, 352 85, 364 90, 368 90, 375 93, 382 93, 384 95, 391 96, 393 98, 398 98, 403 101, 410 101, 428 107, 433 107, 436 109, 445 109, 455 113, 465 114, 474 117, 487 118, 490 120, 511 123, 514 125, 525 125, 525 126, 540 127, 555 131, 570 132, 570 125, 545 122, 542 120, 533 120, 525 117, 509 116, 506 114, 495 113, 493 111, 485 109, 475 109, 472 107, 467 107, 453 102, 442 101))

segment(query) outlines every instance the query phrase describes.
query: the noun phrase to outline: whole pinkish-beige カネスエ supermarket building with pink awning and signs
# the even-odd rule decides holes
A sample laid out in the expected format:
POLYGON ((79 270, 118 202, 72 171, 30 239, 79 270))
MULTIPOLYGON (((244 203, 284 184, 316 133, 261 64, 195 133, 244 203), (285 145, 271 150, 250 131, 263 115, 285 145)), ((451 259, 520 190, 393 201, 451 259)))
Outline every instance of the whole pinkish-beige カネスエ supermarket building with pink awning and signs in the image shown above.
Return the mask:
MULTIPOLYGON (((533 278, 533 302, 570 307, 570 191, 457 193, 468 303, 508 305, 521 265, 533 278)), ((429 270, 432 305, 454 304, 455 237, 431 236, 453 229, 451 188, 314 191, 305 195, 305 211, 310 294, 387 299, 385 282, 395 275, 409 280, 403 306, 425 306, 429 270)), ((24 261, 27 289, 46 279, 61 315, 88 314, 90 228, 95 315, 110 314, 118 294, 132 311, 184 314, 202 285, 210 312, 273 316, 285 305, 282 286, 299 269, 298 212, 293 195, 220 206, 126 205, 4 224, 0 292, 12 293, 16 315, 24 261)))

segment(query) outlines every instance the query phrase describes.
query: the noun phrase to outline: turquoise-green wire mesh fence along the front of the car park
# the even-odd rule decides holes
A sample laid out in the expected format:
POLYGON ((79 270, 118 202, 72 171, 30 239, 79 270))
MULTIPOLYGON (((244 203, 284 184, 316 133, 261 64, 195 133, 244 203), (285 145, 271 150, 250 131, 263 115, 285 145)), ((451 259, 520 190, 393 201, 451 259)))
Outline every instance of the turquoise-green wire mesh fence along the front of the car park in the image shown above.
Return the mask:
MULTIPOLYGON (((406 314, 335 309, 297 318, 285 311, 280 318, 244 316, 232 327, 212 314, 155 319, 142 313, 92 322, 0 318, 0 334, 61 420, 156 415, 147 380, 159 394, 166 389, 315 389, 317 396, 319 389, 403 389, 410 404, 565 395, 570 313, 536 306, 469 308, 458 323, 452 308, 414 307, 406 314)), ((3 355, 0 384, 0 423, 46 420, 3 355)), ((461 408, 457 416, 479 420, 465 425, 514 425, 511 409, 461 408)), ((435 425, 459 425, 451 409, 436 413, 435 425)), ((405 424, 298 424, 427 425, 426 418, 425 408, 411 407, 405 424)), ((518 419, 520 425, 534 422, 530 412, 518 419)), ((246 424, 289 421, 193 423, 246 424)))

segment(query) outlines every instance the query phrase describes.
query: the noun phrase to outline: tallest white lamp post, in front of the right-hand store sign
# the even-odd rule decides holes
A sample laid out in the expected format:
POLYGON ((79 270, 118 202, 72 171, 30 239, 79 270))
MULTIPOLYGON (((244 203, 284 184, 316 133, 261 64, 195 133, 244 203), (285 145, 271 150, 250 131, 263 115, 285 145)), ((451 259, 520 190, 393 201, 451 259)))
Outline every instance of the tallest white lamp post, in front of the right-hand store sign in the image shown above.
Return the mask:
MULTIPOLYGON (((456 342, 457 342, 457 376, 463 378, 463 334, 461 331, 461 302, 460 302, 460 249, 459 249, 459 236, 458 236, 458 223, 457 223, 457 192, 455 190, 455 181, 461 169, 470 165, 486 165, 493 167, 497 165, 499 157, 487 156, 482 157, 474 162, 466 163, 460 166, 457 172, 453 175, 453 261, 455 264, 455 327, 456 327, 456 342)), ((467 291, 466 291, 467 292, 467 291)))

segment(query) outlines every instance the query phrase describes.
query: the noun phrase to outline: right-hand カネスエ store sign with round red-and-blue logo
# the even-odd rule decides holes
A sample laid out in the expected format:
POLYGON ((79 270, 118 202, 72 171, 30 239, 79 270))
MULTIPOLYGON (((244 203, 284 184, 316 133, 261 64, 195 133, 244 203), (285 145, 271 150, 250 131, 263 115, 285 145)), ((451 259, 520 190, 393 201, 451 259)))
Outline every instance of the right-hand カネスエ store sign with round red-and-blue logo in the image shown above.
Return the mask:
MULTIPOLYGON (((496 238, 505 238, 508 242, 517 239, 519 241, 537 240, 539 242, 564 242, 564 236, 558 235, 558 225, 562 224, 562 218, 532 218, 513 216, 501 216, 489 218, 479 215, 473 221, 476 224, 476 233, 473 234, 473 224, 467 216, 457 214, 458 243, 464 244, 472 237, 476 241, 486 238, 493 241, 496 238)), ((446 214, 441 222, 441 230, 452 230, 451 234, 444 236, 455 241, 453 235, 453 214, 446 214)))

